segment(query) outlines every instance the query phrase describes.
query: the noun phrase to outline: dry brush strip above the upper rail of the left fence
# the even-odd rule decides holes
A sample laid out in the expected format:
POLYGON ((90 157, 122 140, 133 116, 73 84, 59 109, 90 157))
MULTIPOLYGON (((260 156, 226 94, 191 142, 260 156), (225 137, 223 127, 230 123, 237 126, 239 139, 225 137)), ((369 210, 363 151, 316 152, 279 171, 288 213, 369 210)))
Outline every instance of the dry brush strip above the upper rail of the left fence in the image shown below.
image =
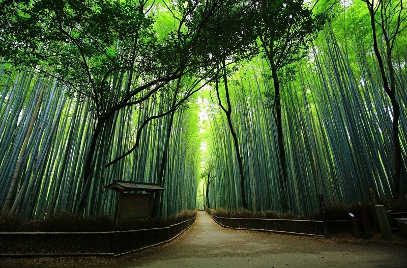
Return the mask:
POLYGON ((63 213, 61 215, 50 215, 43 220, 25 220, 14 213, 3 211, 2 216, 0 216, 0 232, 104 232, 151 229, 167 227, 192 219, 195 217, 196 211, 196 209, 182 210, 166 219, 151 218, 123 221, 117 226, 107 216, 88 218, 63 213))

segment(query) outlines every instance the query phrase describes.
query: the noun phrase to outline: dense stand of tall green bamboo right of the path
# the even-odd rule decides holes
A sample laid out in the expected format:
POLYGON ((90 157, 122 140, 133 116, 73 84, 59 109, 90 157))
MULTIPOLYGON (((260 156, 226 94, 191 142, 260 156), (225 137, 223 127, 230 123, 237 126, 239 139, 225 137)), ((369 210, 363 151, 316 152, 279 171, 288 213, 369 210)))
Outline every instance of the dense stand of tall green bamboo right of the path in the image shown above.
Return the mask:
MULTIPOLYGON (((288 210, 309 215, 318 208, 318 194, 323 194, 328 203, 343 204, 365 200, 370 187, 378 196, 392 195, 392 105, 381 90, 371 33, 366 32, 369 17, 367 10, 363 12, 365 7, 361 12, 360 6, 364 3, 335 7, 336 16, 313 40, 312 53, 285 66, 298 72, 285 71, 284 67, 276 73, 278 85, 273 85, 271 62, 261 59, 243 68, 239 83, 229 84, 235 92, 232 118, 239 126, 236 132, 245 150, 243 163, 248 167, 246 191, 250 193, 250 210, 288 210), (276 85, 281 89, 279 97, 275 94, 276 85), (277 122, 281 122, 281 127, 267 122, 277 117, 278 108, 281 120, 277 122), (278 136, 284 138, 282 143, 276 141, 278 136), (286 149, 286 180, 281 180, 281 164, 275 157, 281 144, 286 149), (285 196, 281 194, 284 192, 285 196), (288 209, 282 207, 284 200, 288 209)), ((394 62, 400 77, 395 83, 403 89, 404 43, 403 36, 395 42, 395 47, 402 48, 395 53, 399 58, 394 62)), ((380 50, 386 51, 384 40, 379 44, 380 50)), ((405 103, 405 90, 399 92, 400 103, 405 103)), ((239 208, 235 201, 239 194, 232 183, 237 176, 237 161, 228 155, 230 137, 222 128, 225 120, 214 117, 214 121, 213 155, 217 161, 213 173, 218 179, 213 184, 211 205, 234 210, 239 208)), ((405 124, 399 128, 405 148, 405 124)), ((405 163, 402 166, 405 174, 405 163)), ((406 184, 400 185, 403 188, 406 184)), ((405 199, 405 191, 400 192, 405 199)))

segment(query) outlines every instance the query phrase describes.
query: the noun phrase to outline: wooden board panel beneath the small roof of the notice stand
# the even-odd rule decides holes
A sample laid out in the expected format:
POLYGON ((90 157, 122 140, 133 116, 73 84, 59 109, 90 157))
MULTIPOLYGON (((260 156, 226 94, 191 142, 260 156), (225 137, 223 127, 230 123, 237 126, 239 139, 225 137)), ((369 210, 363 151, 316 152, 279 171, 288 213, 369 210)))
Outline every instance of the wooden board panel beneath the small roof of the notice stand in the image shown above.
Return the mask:
POLYGON ((151 217, 151 194, 122 194, 119 205, 119 221, 151 217))

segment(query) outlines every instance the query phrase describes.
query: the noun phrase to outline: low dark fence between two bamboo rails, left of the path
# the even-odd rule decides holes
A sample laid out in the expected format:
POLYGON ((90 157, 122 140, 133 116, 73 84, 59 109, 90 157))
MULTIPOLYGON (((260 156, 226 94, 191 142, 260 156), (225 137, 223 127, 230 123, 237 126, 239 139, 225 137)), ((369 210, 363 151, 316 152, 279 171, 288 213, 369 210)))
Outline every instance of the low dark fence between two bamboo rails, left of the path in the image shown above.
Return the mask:
POLYGON ((0 256, 120 256, 175 239, 192 219, 168 227, 107 232, 3 232, 0 256))

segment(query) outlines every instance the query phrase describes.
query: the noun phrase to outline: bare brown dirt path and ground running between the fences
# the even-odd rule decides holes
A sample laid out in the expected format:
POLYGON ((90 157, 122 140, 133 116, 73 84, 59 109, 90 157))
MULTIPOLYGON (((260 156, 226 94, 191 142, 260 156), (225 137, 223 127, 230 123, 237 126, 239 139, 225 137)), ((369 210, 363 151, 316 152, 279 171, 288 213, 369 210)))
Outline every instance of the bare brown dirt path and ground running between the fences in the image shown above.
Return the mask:
POLYGON ((203 211, 173 242, 122 257, 0 258, 0 267, 407 267, 407 240, 230 230, 203 211))

